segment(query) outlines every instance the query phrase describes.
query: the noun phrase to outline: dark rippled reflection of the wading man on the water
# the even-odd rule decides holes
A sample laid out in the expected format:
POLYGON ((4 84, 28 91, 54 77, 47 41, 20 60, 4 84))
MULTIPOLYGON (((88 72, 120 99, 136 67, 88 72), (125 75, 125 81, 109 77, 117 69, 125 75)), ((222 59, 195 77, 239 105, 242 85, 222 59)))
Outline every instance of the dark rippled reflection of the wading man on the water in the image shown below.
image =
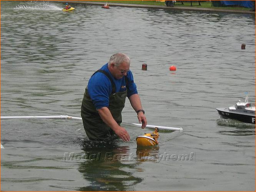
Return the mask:
POLYGON ((85 141, 83 151, 95 154, 95 161, 89 159, 78 166, 79 172, 91 182, 88 186, 80 187, 80 191, 135 190, 133 185, 143 180, 133 176, 138 167, 129 146, 118 146, 115 142, 91 144, 85 141))

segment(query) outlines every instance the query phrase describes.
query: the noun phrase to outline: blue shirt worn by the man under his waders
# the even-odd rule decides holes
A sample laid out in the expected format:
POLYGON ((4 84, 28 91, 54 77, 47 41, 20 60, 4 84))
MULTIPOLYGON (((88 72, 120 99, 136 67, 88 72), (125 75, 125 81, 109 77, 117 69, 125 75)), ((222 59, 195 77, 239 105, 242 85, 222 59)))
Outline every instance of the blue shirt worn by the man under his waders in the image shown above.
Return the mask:
MULTIPOLYGON (((104 70, 110 74, 113 82, 116 86, 116 93, 123 92, 128 86, 127 96, 128 98, 133 94, 138 94, 136 84, 133 81, 133 74, 131 71, 127 72, 128 85, 125 84, 125 76, 121 79, 116 79, 112 76, 108 70, 108 63, 103 65, 100 70, 104 70)), ((88 82, 88 93, 93 101, 96 109, 109 106, 109 97, 112 93, 112 85, 108 77, 103 73, 95 73, 88 82)))

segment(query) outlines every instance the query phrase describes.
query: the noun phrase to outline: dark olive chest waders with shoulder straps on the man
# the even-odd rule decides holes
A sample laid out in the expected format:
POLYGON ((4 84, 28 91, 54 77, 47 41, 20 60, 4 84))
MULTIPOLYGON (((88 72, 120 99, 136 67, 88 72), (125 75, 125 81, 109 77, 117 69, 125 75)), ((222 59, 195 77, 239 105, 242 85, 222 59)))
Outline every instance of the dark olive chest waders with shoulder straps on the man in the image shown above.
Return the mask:
MULTIPOLYGON (((109 106, 113 118, 118 123, 118 125, 122 122, 122 110, 125 107, 125 99, 127 96, 127 86, 126 90, 122 92, 116 92, 116 86, 110 75, 103 70, 98 70, 95 73, 103 73, 105 74, 111 82, 112 92, 109 97, 109 106)), ((94 74, 95 74, 94 73, 94 74)), ((94 75, 93 74, 93 75, 94 75)), ((92 75, 92 76, 93 76, 92 75)), ((128 84, 128 79, 125 76, 125 83, 128 84)), ((92 140, 112 140, 118 138, 115 135, 115 132, 102 121, 98 111, 96 110, 89 94, 88 87, 85 88, 85 94, 83 96, 82 106, 81 106, 81 117, 83 119, 83 127, 85 128, 85 132, 89 139, 92 140)))

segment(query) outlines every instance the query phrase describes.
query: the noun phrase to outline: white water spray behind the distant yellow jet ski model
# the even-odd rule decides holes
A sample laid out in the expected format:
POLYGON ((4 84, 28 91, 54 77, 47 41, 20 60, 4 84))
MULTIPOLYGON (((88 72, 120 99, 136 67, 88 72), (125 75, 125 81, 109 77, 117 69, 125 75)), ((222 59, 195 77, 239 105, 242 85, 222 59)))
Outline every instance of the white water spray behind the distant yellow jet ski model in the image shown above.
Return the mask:
POLYGON ((24 5, 17 5, 14 9, 18 10, 62 10, 59 6, 50 2, 30 2, 24 5))

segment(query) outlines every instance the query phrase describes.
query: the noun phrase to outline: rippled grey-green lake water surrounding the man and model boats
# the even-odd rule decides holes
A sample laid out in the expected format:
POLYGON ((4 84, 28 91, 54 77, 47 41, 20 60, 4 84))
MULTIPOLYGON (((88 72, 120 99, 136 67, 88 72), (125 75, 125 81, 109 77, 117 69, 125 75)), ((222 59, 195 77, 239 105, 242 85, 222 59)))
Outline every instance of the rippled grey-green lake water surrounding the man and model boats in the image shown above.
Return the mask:
POLYGON ((137 149, 151 130, 128 100, 130 142, 91 143, 80 120, 3 119, 1 190, 255 190, 255 125, 215 109, 246 91, 255 103, 255 15, 72 5, 1 2, 1 116, 80 117, 91 74, 123 52, 148 124, 183 132, 137 149))

